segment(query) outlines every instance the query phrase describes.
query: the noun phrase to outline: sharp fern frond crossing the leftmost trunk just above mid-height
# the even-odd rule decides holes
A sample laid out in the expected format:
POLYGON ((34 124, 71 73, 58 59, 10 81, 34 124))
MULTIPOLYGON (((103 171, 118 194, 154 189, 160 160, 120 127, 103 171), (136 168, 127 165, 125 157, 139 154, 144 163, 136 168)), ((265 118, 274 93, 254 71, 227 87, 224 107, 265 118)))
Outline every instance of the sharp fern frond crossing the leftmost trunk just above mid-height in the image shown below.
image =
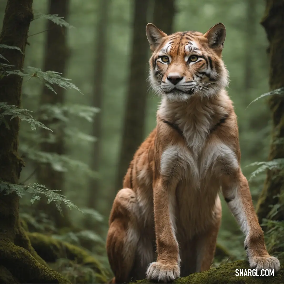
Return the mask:
POLYGON ((31 114, 31 110, 21 109, 14 105, 8 105, 7 102, 0 102, 0 125, 1 123, 5 123, 5 126, 10 129, 9 124, 7 123, 5 115, 11 116, 10 120, 15 117, 19 117, 21 120, 27 121, 32 130, 36 130, 37 127, 45 128, 47 130, 52 131, 48 127, 46 127, 43 123, 36 120, 31 114))

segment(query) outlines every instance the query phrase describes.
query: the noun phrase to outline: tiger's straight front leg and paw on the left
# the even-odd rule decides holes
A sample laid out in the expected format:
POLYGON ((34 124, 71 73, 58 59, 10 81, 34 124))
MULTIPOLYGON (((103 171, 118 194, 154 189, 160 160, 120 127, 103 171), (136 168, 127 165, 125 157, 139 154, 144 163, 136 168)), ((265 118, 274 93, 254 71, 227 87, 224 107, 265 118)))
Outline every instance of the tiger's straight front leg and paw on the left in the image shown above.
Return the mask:
POLYGON ((179 246, 175 225, 175 187, 162 179, 154 183, 154 218, 157 260, 147 269, 149 280, 171 282, 180 275, 179 246))

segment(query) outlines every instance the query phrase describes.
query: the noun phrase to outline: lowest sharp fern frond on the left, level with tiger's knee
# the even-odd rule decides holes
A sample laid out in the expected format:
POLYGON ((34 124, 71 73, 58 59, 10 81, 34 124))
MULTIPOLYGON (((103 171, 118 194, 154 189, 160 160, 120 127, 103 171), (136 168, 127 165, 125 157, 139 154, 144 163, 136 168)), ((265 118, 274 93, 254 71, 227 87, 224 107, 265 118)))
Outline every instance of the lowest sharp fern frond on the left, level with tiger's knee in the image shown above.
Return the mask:
MULTIPOLYGON (((0 183, 0 193, 5 190, 5 195, 15 192, 20 197, 24 196, 26 193, 32 194, 31 202, 41 199, 40 195, 47 197, 47 204, 54 201, 60 214, 63 215, 61 205, 66 205, 69 209, 78 209, 81 211, 72 201, 68 200, 66 196, 57 193, 60 190, 49 190, 44 185, 33 183, 28 185, 18 185, 13 183, 1 182, 0 183)), ((82 212, 82 211, 81 211, 82 212)))

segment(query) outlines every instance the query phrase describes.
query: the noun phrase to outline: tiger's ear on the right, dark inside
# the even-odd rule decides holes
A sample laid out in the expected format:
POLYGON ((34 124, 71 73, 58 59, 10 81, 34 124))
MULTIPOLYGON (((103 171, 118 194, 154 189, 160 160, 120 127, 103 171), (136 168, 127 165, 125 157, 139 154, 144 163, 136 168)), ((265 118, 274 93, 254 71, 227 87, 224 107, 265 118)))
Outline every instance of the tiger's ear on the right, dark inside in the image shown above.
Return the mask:
POLYGON ((209 47, 215 49, 216 51, 222 51, 226 38, 226 29, 224 24, 216 24, 204 34, 204 37, 208 39, 209 47))

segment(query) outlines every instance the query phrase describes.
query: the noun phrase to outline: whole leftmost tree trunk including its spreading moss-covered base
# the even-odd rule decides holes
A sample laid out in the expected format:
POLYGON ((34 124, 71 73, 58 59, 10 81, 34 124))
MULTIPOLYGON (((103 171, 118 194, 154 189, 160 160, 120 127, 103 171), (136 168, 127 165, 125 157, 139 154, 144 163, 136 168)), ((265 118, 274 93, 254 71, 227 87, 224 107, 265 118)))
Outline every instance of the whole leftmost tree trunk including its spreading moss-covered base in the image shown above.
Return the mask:
MULTIPOLYGON (((19 47, 0 49, 15 69, 24 65, 28 30, 33 18, 32 0, 8 0, 0 35, 0 44, 19 47)), ((0 80, 0 101, 20 106, 22 78, 10 75, 0 80)), ((6 117, 7 119, 7 117, 6 117)), ((24 162, 18 155, 19 119, 7 119, 9 128, 0 125, 0 181, 18 183, 24 162)), ((68 283, 52 272, 31 246, 19 219, 16 193, 0 194, 0 282, 1 283, 68 283), (34 257, 33 257, 34 256, 34 257), (39 263, 39 262, 41 263, 39 263)))

